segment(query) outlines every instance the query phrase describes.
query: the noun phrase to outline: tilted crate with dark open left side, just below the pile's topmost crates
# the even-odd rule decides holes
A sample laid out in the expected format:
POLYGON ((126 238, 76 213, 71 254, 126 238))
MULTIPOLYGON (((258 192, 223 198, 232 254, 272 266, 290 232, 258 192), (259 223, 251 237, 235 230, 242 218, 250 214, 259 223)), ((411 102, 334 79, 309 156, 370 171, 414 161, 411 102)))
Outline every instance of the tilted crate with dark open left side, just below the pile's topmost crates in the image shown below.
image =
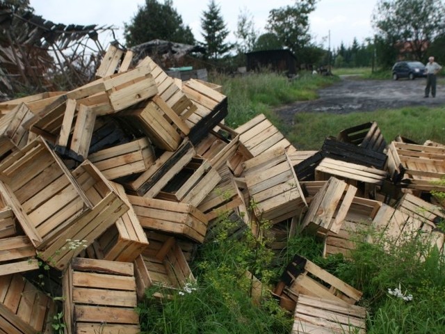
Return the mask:
POLYGON ((140 129, 158 148, 175 151, 190 129, 159 95, 136 108, 118 113, 134 129, 140 129))

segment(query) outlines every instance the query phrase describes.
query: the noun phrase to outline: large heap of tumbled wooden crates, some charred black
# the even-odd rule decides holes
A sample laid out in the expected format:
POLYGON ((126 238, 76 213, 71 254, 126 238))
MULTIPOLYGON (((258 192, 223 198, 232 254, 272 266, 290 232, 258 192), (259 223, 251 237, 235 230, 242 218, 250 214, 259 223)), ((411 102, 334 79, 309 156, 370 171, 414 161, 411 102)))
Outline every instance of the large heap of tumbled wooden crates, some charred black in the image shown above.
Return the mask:
MULTIPOLYGON (((386 145, 370 122, 299 151, 264 115, 224 125, 219 86, 131 56, 110 47, 86 86, 0 104, 0 333, 51 332, 56 305, 34 284, 40 260, 65 296, 67 333, 138 333, 145 289, 195 282, 189 264, 223 212, 234 238, 270 221, 275 250, 300 227, 326 256, 347 257, 374 227, 444 251, 440 203, 421 199, 444 189, 432 182, 440 145, 386 145)), ((298 255, 274 294, 295 315, 293 333, 365 331, 361 293, 298 255)))

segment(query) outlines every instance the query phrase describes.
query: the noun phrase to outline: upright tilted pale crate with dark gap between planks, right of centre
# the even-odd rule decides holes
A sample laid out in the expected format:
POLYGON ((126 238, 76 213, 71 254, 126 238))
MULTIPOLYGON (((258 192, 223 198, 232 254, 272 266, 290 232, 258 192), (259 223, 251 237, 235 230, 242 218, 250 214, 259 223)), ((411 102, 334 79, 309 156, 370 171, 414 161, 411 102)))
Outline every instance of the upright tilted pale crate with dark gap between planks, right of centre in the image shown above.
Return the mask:
POLYGON ((305 231, 325 237, 327 232, 337 234, 343 224, 357 188, 330 177, 311 201, 302 221, 305 231))

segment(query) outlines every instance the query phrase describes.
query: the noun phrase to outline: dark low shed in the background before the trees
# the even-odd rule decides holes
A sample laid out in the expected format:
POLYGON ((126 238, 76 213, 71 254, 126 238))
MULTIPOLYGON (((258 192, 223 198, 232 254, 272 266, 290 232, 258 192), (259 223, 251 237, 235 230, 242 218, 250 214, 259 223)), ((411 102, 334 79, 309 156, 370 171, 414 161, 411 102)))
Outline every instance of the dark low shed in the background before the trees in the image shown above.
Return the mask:
POLYGON ((297 72, 297 58, 289 49, 253 51, 245 55, 248 71, 269 68, 275 72, 285 72, 288 75, 297 72))

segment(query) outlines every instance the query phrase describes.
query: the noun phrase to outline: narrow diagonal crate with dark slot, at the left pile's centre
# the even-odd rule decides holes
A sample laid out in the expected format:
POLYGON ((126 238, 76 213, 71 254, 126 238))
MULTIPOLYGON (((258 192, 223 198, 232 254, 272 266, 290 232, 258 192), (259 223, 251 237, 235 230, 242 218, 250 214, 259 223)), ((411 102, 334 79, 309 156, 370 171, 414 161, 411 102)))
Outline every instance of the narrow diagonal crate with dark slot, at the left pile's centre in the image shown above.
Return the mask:
POLYGON ((144 173, 124 186, 129 193, 152 198, 195 157, 195 148, 184 141, 176 152, 164 152, 144 173))

